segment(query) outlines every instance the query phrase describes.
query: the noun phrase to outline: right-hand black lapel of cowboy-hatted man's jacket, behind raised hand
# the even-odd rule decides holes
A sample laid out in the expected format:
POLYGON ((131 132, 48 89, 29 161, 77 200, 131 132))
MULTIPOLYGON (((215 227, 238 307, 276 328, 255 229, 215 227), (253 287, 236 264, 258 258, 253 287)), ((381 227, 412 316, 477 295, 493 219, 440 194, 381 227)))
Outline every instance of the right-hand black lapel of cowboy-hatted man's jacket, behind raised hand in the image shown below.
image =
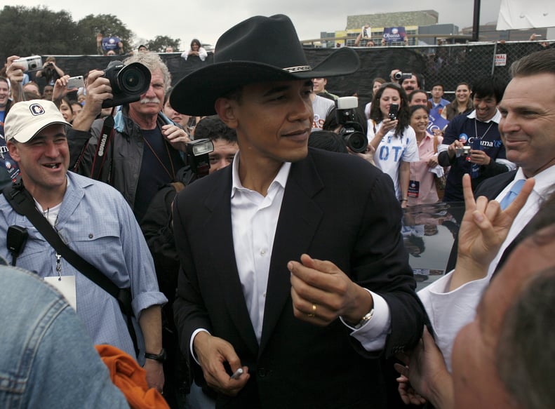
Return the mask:
POLYGON ((312 198, 322 188, 323 182, 310 155, 303 161, 293 163, 272 248, 260 353, 271 337, 286 302, 291 302, 287 262, 299 260, 300 255, 309 248, 323 216, 323 210, 312 198))

